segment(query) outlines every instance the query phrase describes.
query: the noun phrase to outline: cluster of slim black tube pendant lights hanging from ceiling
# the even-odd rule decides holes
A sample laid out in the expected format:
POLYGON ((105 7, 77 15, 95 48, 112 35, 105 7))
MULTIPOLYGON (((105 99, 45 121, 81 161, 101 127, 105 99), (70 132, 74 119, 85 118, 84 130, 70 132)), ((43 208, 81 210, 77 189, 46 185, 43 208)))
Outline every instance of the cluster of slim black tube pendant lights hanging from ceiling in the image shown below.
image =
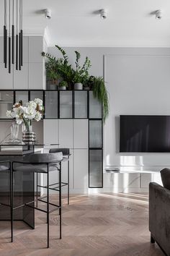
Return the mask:
POLYGON ((4 0, 4 67, 9 73, 12 64, 17 70, 23 66, 22 13, 22 0, 4 0))

